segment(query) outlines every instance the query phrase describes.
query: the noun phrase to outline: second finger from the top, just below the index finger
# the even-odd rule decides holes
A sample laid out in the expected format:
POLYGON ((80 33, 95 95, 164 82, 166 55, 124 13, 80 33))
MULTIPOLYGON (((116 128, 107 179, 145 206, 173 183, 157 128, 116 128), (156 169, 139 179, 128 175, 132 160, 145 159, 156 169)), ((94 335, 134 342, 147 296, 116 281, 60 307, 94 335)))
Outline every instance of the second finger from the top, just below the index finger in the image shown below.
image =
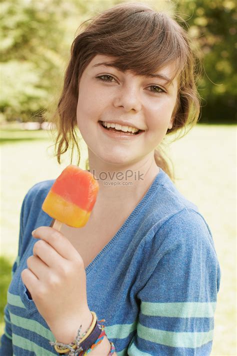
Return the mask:
POLYGON ((48 267, 57 266, 65 260, 51 245, 41 239, 35 242, 33 255, 39 257, 48 267))

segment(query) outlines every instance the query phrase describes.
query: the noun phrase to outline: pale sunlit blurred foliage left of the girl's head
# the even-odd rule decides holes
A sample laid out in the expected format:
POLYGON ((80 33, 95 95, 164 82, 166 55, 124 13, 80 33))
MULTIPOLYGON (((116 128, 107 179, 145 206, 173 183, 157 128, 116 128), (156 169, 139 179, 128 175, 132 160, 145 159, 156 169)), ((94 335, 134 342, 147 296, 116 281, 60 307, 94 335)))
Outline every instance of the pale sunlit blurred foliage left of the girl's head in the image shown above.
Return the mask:
POLYGON ((58 26, 58 17, 63 14, 60 3, 8 0, 2 4, 4 85, 0 111, 7 119, 20 116, 28 120, 36 112, 44 111, 48 93, 55 93, 52 83, 60 75, 65 45, 63 28, 58 26))

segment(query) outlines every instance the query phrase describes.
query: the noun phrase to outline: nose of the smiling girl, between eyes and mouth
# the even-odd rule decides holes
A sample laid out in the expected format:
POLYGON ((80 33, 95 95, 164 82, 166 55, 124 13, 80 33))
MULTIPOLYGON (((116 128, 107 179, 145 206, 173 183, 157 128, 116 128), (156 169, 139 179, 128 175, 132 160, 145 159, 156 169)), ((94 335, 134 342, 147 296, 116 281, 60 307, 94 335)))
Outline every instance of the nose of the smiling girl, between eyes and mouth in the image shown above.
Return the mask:
POLYGON ((141 110, 141 101, 138 89, 135 85, 127 84, 121 86, 116 92, 113 105, 115 108, 123 108, 126 112, 141 110))

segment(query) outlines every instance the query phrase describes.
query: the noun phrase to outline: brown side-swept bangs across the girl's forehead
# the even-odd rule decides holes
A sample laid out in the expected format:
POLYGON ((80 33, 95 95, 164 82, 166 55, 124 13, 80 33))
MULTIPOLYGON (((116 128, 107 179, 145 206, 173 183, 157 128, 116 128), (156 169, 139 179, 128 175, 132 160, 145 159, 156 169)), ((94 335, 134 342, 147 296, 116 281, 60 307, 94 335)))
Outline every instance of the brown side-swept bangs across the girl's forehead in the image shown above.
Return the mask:
POLYGON ((120 21, 111 19, 108 28, 106 32, 103 28, 93 43, 96 54, 114 57, 108 66, 147 75, 175 63, 172 81, 186 64, 188 48, 180 35, 180 27, 177 31, 176 22, 163 13, 124 14, 120 21))

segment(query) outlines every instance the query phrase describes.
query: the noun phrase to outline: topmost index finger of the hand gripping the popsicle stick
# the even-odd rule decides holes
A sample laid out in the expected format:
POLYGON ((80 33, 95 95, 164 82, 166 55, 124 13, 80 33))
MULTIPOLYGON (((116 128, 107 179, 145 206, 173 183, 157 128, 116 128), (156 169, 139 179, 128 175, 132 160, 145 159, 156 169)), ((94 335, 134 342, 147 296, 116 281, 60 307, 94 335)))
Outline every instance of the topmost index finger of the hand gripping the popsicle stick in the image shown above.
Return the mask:
POLYGON ((50 246, 52 246, 54 250, 59 253, 59 255, 68 260, 74 260, 78 257, 81 258, 79 253, 67 240, 67 238, 52 227, 40 226, 32 231, 32 236, 44 240, 50 246))

